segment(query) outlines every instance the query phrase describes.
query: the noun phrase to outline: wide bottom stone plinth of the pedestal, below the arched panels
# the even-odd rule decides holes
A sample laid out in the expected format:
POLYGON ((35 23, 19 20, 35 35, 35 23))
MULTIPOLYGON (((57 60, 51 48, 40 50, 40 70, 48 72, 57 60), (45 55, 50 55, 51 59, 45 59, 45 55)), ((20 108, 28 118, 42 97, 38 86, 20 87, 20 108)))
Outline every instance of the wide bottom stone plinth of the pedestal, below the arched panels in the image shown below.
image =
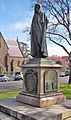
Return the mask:
POLYGON ((55 93, 53 95, 43 95, 43 96, 36 96, 30 95, 25 93, 20 93, 16 100, 19 102, 23 102, 29 105, 33 105, 36 107, 48 107, 50 105, 55 105, 64 102, 66 99, 64 95, 61 93, 55 93))

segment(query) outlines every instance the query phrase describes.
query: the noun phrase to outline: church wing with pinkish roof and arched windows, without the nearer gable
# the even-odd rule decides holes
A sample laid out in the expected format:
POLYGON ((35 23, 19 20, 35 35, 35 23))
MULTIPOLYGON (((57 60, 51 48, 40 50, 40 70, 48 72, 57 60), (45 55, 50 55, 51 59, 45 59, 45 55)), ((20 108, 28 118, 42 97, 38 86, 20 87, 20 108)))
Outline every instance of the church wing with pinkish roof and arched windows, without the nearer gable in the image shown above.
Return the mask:
POLYGON ((9 71, 20 71, 21 65, 24 62, 24 58, 19 49, 18 43, 15 40, 6 40, 8 46, 8 70, 9 71))

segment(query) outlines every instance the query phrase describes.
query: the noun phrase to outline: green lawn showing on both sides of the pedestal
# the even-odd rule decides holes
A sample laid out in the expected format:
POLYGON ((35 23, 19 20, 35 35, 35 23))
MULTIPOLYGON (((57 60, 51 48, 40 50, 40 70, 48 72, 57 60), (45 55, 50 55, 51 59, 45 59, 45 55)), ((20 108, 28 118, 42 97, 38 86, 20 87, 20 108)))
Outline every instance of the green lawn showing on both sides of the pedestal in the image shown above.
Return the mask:
MULTIPOLYGON (((0 98, 16 97, 19 94, 20 91, 21 91, 21 89, 0 92, 0 98)), ((60 91, 67 98, 71 98, 71 84, 61 84, 60 85, 60 91)))

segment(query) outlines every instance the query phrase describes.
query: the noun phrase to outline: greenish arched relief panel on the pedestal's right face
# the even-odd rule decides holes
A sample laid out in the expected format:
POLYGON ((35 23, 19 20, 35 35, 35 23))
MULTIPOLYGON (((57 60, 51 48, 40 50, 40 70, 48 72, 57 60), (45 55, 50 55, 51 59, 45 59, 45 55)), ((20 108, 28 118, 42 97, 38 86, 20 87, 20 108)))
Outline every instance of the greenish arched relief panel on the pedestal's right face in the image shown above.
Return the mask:
POLYGON ((57 91, 57 72, 54 70, 46 71, 44 74, 44 92, 56 92, 57 91))

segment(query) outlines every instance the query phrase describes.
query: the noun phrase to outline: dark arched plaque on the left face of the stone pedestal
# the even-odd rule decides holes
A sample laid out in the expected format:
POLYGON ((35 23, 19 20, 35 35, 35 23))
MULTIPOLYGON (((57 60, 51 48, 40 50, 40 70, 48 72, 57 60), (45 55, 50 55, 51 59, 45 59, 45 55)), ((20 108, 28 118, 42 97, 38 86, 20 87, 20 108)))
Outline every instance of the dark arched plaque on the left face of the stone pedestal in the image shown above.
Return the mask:
POLYGON ((24 84, 27 93, 37 93, 37 72, 32 69, 28 69, 24 75, 24 84))

